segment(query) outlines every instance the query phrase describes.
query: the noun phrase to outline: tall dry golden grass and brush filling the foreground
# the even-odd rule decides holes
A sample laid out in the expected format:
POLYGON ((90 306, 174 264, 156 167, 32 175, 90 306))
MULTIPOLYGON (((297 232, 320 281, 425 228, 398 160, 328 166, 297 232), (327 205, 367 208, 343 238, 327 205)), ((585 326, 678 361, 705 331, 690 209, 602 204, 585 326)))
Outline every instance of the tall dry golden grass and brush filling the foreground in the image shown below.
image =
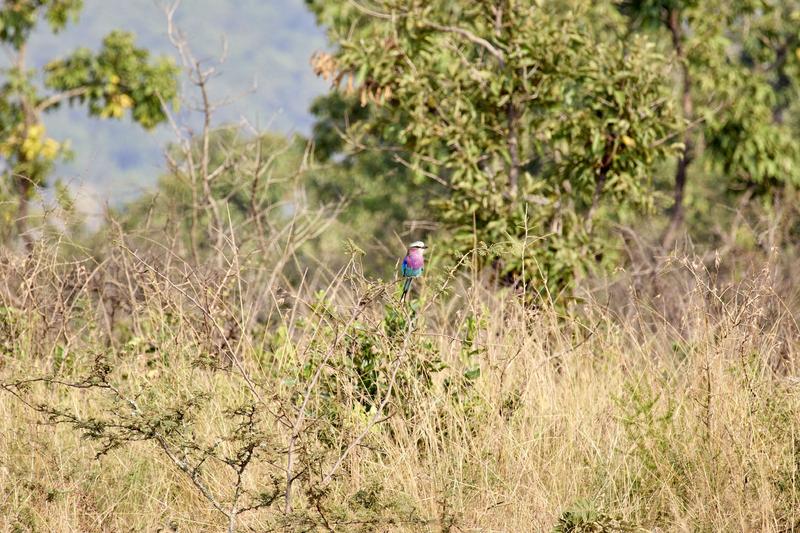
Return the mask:
POLYGON ((356 256, 292 286, 223 255, 3 258, 0 529, 800 525, 798 329, 769 267, 674 262, 572 317, 433 273, 414 317, 356 256))

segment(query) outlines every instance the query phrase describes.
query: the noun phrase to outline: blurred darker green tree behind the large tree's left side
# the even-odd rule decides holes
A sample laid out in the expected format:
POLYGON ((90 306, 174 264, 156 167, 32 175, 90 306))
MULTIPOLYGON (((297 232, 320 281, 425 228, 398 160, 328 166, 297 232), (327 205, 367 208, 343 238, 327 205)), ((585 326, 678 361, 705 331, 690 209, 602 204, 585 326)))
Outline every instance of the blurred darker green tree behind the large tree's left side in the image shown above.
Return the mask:
POLYGON ((336 225, 340 238, 326 241, 338 247, 357 228, 359 235, 372 238, 359 243, 369 252, 366 271, 385 274, 397 259, 397 248, 387 250, 386 244, 396 244, 397 236, 425 238, 431 229, 426 199, 446 190, 411 172, 409 154, 376 134, 371 120, 379 109, 374 104, 362 106, 355 94, 332 92, 315 100, 311 112, 317 119, 312 139, 321 168, 308 176, 306 186, 318 201, 347 202, 336 225))

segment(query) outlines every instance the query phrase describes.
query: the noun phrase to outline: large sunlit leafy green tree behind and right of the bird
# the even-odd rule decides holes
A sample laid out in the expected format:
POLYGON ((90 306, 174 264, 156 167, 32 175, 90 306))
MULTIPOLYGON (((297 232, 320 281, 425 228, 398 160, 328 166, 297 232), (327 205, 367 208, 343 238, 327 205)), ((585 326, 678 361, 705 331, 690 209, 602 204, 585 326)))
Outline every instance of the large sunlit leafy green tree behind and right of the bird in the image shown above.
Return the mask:
POLYGON ((431 207, 454 250, 499 245, 486 259, 500 275, 555 294, 613 248, 609 221, 652 207, 653 164, 675 149, 664 61, 608 38, 587 6, 309 4, 338 45, 318 71, 446 187, 431 207))

